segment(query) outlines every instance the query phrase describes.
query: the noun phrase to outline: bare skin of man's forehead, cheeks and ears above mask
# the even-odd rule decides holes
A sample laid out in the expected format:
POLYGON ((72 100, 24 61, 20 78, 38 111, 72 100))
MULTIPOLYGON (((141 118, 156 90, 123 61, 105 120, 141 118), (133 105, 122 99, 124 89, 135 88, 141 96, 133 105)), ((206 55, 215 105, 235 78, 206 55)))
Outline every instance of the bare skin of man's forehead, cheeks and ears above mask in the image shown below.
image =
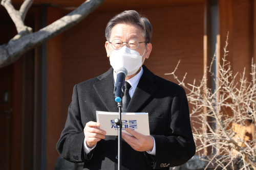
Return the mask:
MULTIPOLYGON (((150 57, 152 44, 148 43, 146 47, 146 43, 144 43, 145 38, 142 36, 142 29, 139 26, 119 23, 113 27, 111 31, 110 42, 112 42, 114 39, 120 39, 122 42, 128 42, 130 39, 136 39, 139 42, 143 42, 139 44, 136 51, 142 56, 146 50, 145 54, 142 56, 142 61, 144 61, 145 58, 148 59, 148 57, 150 57)), ((126 44, 127 43, 124 43, 124 45, 126 44)), ((107 56, 110 57, 110 53, 112 54, 115 49, 112 47, 109 41, 105 42, 105 48, 107 56)))

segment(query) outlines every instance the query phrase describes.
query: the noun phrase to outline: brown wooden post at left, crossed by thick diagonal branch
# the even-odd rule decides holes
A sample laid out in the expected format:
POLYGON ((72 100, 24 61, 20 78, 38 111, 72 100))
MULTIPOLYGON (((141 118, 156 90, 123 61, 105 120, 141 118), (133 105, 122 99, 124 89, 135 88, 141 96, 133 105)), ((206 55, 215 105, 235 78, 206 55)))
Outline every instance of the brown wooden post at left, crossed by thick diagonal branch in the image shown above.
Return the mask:
MULTIPOLYGON (((47 25, 62 17, 57 8, 47 8, 47 25)), ((56 143, 62 131, 62 35, 47 42, 47 127, 46 169, 54 169, 57 157, 56 143)))

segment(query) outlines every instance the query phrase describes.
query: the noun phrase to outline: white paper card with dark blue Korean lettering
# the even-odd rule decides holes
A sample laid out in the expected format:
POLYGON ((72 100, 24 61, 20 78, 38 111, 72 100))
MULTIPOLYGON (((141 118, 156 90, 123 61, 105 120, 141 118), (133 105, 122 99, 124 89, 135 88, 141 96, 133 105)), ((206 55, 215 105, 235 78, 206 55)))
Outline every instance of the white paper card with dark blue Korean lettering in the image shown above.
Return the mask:
MULTIPOLYGON (((106 135, 117 136, 118 128, 115 119, 118 118, 117 112, 96 111, 97 123, 99 129, 106 131, 106 135)), ((150 126, 148 124, 148 113, 122 113, 122 132, 129 134, 125 128, 130 128, 142 135, 150 135, 150 126)))

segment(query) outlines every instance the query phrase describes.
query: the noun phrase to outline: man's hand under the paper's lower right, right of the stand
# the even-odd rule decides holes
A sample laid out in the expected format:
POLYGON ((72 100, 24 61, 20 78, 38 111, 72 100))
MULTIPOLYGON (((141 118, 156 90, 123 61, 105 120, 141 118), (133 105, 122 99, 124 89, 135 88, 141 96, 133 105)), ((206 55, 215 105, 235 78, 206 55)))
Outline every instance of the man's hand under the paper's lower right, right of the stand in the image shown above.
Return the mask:
POLYGON ((135 151, 152 151, 154 147, 154 139, 152 136, 144 136, 132 129, 125 128, 125 131, 133 136, 122 133, 122 138, 130 144, 135 151))

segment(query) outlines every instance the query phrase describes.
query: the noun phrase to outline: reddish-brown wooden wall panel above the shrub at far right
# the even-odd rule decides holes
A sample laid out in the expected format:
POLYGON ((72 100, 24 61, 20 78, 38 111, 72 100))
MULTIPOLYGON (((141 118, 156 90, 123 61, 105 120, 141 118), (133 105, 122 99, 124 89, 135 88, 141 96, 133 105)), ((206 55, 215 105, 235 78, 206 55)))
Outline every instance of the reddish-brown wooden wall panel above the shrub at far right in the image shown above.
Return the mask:
POLYGON ((250 65, 253 58, 253 1, 233 2, 233 42, 231 43, 234 74, 239 72, 242 75, 246 67, 245 77, 250 80, 250 65))

